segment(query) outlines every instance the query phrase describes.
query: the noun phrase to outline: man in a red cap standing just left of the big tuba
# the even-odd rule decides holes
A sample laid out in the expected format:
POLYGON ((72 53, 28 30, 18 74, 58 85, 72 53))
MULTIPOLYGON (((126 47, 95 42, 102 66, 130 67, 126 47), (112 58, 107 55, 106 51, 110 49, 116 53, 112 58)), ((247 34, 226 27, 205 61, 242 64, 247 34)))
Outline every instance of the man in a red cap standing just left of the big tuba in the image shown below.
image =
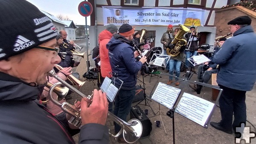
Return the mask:
MULTIPOLYGON (((172 42, 172 33, 174 32, 172 29, 172 25, 168 25, 167 26, 167 31, 163 33, 162 37, 161 37, 161 43, 163 44, 163 51, 164 51, 164 55, 167 55, 166 53, 166 49, 168 47, 168 44, 172 42)), ((166 60, 166 72, 169 72, 169 62, 166 60)))

